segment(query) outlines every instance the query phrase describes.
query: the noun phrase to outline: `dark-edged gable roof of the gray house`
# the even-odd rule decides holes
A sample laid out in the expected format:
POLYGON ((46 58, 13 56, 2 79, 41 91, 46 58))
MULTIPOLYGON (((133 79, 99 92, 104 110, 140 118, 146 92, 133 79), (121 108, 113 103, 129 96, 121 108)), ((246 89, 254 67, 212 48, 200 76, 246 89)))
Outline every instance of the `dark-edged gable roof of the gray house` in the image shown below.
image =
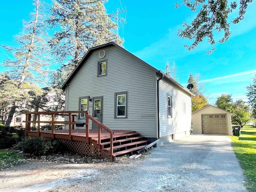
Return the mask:
POLYGON ((92 54, 92 52, 94 52, 95 50, 99 50, 102 48, 106 48, 109 46, 115 46, 116 48, 122 50, 123 52, 125 52, 126 54, 132 56, 134 59, 140 61, 141 63, 145 64, 146 66, 148 66, 148 68, 151 68, 152 70, 154 70, 156 72, 156 74, 158 74, 159 76, 164 76, 164 79, 166 79, 168 82, 172 83, 174 86, 180 88, 181 90, 185 91, 186 93, 195 96, 192 92, 188 91, 186 88, 184 88, 181 84, 179 84, 178 82, 176 82, 175 80, 173 80, 172 78, 170 78, 166 73, 162 72, 161 70, 157 70, 156 68, 154 68, 153 66, 151 66, 150 64, 146 63, 145 61, 141 60, 140 58, 138 58, 137 56, 135 56, 134 54, 128 52, 127 50, 125 50, 124 48, 120 47, 119 45, 115 44, 114 42, 109 42, 100 46, 96 46, 96 47, 92 47, 90 48, 86 54, 84 55, 84 57, 81 59, 81 61, 78 63, 78 65, 76 66, 76 68, 73 70, 73 72, 70 74, 70 76, 68 77, 68 79, 66 80, 66 82, 61 86, 62 89, 65 89, 66 85, 72 80, 73 76, 76 74, 76 72, 78 72, 78 70, 81 68, 81 66, 83 65, 83 63, 87 60, 87 58, 92 54))

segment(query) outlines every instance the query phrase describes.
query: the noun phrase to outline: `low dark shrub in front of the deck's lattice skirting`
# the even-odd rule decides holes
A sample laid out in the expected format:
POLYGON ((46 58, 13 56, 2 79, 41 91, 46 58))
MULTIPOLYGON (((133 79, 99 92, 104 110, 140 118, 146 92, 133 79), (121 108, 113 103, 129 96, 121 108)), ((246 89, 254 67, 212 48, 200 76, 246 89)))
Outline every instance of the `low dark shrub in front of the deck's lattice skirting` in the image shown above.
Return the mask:
POLYGON ((36 156, 48 155, 57 152, 63 152, 65 150, 64 144, 57 140, 44 140, 42 137, 34 137, 30 140, 26 140, 22 144, 19 144, 25 153, 31 153, 36 156))

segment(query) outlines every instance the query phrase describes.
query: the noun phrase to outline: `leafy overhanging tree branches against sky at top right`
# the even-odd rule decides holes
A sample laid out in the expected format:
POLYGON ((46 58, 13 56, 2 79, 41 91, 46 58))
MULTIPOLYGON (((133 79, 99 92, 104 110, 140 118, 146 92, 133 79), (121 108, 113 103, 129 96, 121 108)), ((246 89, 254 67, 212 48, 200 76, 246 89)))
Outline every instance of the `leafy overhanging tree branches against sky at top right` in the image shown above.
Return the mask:
POLYGON ((252 0, 240 0, 238 3, 235 0, 182 0, 180 4, 175 4, 176 8, 184 5, 193 12, 199 11, 191 24, 182 22, 184 29, 178 30, 178 36, 194 41, 191 45, 184 45, 188 50, 196 48, 204 38, 207 38, 208 43, 213 46, 212 50, 208 51, 211 53, 215 50, 214 31, 223 31, 224 35, 218 41, 226 42, 231 35, 230 24, 237 24, 244 19, 248 4, 251 2, 252 0), (237 8, 238 14, 234 14, 237 8))

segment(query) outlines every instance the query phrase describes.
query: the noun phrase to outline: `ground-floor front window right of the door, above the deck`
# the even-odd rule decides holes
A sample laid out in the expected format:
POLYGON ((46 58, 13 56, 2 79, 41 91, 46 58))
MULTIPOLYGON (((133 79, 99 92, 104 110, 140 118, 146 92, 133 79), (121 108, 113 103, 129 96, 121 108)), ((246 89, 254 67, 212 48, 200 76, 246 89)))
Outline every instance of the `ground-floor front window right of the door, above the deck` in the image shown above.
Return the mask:
POLYGON ((115 93, 114 118, 127 118, 127 95, 128 92, 115 93))

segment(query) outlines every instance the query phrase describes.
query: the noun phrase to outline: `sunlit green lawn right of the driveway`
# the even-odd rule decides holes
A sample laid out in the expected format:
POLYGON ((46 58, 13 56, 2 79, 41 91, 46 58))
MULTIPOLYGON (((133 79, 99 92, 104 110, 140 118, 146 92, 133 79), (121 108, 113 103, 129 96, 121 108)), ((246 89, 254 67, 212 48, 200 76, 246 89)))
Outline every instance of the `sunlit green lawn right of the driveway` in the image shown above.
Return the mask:
POLYGON ((230 136, 232 147, 245 176, 249 192, 256 189, 256 127, 244 126, 239 137, 230 136))

